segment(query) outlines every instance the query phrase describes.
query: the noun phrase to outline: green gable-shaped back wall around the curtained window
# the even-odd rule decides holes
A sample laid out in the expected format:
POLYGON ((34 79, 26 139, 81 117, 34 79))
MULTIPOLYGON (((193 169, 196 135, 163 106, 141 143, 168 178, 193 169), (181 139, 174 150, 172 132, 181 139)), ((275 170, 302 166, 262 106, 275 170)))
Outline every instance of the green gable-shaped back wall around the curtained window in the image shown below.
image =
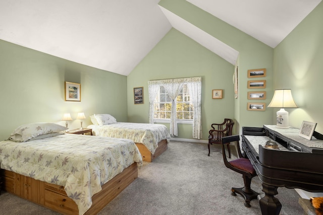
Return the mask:
MULTIPOLYGON (((202 77, 202 129, 207 137, 213 122, 234 118, 234 66, 175 29, 154 47, 128 76, 128 120, 148 123, 148 81, 202 77), (134 104, 133 88, 144 87, 144 104, 134 104), (212 90, 223 89, 223 99, 212 90), (209 113, 209 114, 207 114, 209 113)), ((165 124, 169 127, 169 124, 165 124)), ((178 124, 179 138, 192 138, 191 124, 178 124)))

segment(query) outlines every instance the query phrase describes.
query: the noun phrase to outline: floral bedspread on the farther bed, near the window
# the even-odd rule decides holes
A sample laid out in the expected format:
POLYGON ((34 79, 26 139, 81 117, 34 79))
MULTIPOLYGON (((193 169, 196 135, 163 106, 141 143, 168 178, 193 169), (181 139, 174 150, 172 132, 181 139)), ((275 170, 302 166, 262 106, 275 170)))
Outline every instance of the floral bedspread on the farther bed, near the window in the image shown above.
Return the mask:
POLYGON ((96 136, 132 139, 134 142, 145 145, 151 154, 155 153, 158 142, 163 139, 167 139, 169 142, 171 138, 168 128, 161 124, 117 122, 87 127, 92 128, 93 135, 96 136))

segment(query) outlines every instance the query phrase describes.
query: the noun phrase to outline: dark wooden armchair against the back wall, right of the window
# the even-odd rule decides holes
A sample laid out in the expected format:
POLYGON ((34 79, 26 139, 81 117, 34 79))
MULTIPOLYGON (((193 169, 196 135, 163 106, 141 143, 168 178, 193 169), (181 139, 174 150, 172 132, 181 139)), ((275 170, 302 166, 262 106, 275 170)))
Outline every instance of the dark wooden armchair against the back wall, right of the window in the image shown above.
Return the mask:
MULTIPOLYGON (((210 156, 210 145, 211 144, 222 144, 222 137, 224 136, 231 136, 232 135, 232 128, 234 125, 234 121, 232 119, 224 119, 224 122, 221 124, 213 123, 211 124, 211 127, 213 129, 209 130, 209 136, 208 136, 208 154, 207 156, 210 156)), ((227 145, 228 152, 229 152, 229 158, 231 158, 231 152, 230 152, 230 145, 227 145)))

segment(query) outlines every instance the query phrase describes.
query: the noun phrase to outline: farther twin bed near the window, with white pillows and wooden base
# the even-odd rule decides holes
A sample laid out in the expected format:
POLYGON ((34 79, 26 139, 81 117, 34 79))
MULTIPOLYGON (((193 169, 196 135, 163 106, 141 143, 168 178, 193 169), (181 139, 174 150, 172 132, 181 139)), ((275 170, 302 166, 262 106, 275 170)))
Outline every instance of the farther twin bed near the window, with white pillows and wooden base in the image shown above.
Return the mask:
POLYGON ((131 139, 137 145, 143 161, 152 162, 168 148, 171 135, 161 124, 117 122, 110 114, 90 116, 93 135, 131 139))

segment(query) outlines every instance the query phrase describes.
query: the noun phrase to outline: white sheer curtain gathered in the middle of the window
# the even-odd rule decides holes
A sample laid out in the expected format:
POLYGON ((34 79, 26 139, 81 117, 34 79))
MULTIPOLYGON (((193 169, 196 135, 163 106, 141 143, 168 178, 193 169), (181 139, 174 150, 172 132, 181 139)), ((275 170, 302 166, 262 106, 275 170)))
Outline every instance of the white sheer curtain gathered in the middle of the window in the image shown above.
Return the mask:
POLYGON ((177 82, 176 79, 173 79, 171 82, 164 83, 164 88, 168 95, 172 99, 172 112, 171 112, 171 123, 170 123, 170 133, 172 136, 178 135, 177 129, 177 114, 176 114, 176 107, 177 107, 177 100, 176 97, 181 92, 183 87, 183 82, 177 82))

